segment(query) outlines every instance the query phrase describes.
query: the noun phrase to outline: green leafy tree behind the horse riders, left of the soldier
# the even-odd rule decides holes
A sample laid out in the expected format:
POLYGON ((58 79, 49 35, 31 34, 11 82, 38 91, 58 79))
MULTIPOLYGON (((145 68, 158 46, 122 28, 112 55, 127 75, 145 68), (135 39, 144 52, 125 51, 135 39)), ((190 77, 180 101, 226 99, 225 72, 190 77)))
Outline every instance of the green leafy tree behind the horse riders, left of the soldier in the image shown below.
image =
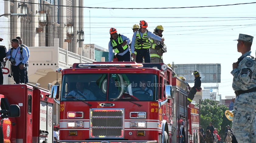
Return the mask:
POLYGON ((212 122, 214 128, 217 128, 220 137, 224 138, 226 126, 232 125, 232 122, 229 121, 224 114, 226 110, 228 110, 226 106, 221 105, 216 101, 210 99, 202 100, 200 109, 200 125, 202 125, 202 128, 206 130, 207 126, 209 126, 209 122, 212 122))

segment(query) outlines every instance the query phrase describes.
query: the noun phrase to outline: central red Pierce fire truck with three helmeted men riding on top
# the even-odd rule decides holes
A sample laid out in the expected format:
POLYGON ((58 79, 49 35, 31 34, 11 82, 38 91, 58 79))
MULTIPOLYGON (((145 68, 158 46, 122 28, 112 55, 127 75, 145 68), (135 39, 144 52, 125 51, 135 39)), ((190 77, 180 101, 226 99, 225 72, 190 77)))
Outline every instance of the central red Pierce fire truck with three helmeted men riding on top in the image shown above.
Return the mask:
POLYGON ((56 71, 62 72, 60 96, 59 86, 52 89, 60 99, 60 142, 188 141, 186 84, 166 64, 74 63, 56 71))

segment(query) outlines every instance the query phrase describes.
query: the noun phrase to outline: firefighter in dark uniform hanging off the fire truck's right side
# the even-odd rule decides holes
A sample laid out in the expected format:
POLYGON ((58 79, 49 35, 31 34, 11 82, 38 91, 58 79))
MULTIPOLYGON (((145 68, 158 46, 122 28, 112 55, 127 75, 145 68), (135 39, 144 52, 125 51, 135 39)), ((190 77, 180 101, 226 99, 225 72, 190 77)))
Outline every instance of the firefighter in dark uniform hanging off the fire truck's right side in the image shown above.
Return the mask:
MULTIPOLYGON (((192 100, 195 97, 196 92, 200 92, 202 90, 201 88, 201 77, 200 74, 197 70, 193 71, 192 73, 195 76, 195 84, 194 86, 190 89, 189 94, 188 94, 188 105, 192 102, 192 100)), ((213 128, 214 130, 214 128, 213 128)))

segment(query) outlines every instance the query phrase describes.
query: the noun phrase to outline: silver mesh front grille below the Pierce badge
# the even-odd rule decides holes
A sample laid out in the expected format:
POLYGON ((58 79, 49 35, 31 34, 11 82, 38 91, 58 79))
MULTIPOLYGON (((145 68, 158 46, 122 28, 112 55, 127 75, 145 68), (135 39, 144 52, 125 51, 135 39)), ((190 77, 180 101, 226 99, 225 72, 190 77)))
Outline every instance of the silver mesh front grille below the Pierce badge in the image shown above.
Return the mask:
POLYGON ((124 109, 91 109, 90 138, 124 138, 124 109))

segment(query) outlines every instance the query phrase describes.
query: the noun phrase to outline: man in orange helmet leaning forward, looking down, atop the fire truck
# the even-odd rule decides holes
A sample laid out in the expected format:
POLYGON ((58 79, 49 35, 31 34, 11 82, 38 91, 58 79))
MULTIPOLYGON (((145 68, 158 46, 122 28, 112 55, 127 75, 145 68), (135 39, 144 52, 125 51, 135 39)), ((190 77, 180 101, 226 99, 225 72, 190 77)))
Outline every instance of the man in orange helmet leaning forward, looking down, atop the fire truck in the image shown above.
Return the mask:
POLYGON ((129 45, 131 40, 123 34, 117 34, 116 28, 110 28, 109 62, 113 60, 113 50, 118 61, 131 61, 129 45))

